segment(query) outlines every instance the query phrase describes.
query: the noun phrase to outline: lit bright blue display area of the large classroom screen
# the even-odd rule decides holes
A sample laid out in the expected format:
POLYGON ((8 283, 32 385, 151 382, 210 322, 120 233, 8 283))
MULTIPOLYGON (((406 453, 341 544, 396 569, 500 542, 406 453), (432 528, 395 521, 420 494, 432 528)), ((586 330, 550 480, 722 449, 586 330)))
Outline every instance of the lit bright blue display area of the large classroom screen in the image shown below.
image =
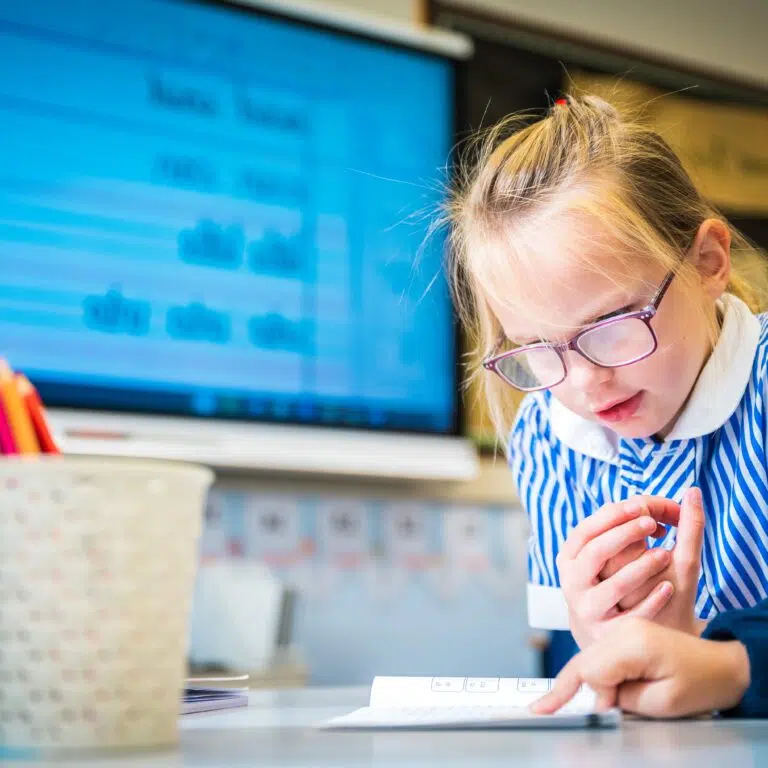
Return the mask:
POLYGON ((0 0, 0 52, 0 355, 49 405, 455 429, 451 62, 181 0, 0 0))

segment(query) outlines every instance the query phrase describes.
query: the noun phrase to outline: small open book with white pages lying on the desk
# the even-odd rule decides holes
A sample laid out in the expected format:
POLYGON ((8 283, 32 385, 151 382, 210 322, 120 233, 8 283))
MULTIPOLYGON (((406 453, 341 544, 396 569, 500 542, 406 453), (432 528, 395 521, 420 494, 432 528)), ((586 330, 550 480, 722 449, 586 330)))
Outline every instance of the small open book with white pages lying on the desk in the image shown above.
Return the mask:
POLYGON ((550 689, 548 678, 377 677, 370 705, 322 724, 327 729, 589 728, 615 727, 621 712, 595 712, 594 691, 583 686, 554 715, 529 705, 550 689))

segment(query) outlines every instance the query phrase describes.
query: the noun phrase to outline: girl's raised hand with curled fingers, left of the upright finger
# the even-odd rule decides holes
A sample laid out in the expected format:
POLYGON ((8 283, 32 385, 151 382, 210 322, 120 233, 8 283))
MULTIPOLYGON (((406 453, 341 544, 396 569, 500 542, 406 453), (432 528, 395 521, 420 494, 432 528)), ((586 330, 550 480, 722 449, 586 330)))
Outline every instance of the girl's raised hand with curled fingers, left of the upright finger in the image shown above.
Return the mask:
POLYGON ((571 632, 579 646, 594 642, 618 616, 652 619, 667 605, 674 585, 662 580, 632 609, 622 611, 619 606, 623 598, 669 567, 672 554, 666 550, 646 551, 602 581, 600 572, 611 558, 656 533, 659 523, 676 523, 678 516, 675 502, 642 496, 606 504, 572 531, 558 555, 557 567, 571 632))

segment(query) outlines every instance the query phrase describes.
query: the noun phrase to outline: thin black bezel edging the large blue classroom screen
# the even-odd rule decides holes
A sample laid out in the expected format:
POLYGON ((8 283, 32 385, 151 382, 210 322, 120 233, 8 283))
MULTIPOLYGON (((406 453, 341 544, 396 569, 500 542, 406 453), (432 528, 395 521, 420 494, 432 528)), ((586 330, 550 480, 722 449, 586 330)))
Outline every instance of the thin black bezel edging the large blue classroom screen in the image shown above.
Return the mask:
MULTIPOLYGON (((454 38, 453 46, 440 45, 440 40, 436 40, 434 46, 426 46, 419 44, 420 35, 395 35, 391 34, 391 31, 384 27, 380 32, 374 31, 371 27, 369 30, 367 27, 358 28, 358 25, 348 23, 337 23, 331 18, 323 18, 321 13, 315 12, 310 17, 309 14, 302 13, 303 9, 291 8, 286 5, 277 5, 274 3, 262 3, 258 0, 172 0, 173 3, 179 6, 201 6, 208 8, 215 8, 218 10, 224 10, 234 14, 244 14, 256 18, 268 18, 275 21, 285 22, 294 26, 301 26, 308 29, 320 30, 341 38, 360 40, 366 43, 370 43, 375 46, 384 48, 393 48, 395 50, 403 50, 412 53, 417 53, 420 56, 431 58, 446 62, 449 65, 451 73, 451 83, 449 84, 449 91, 452 94, 453 104, 452 106, 452 123, 450 134, 451 150, 449 156, 446 158, 446 162, 450 162, 453 157, 453 151, 459 137, 459 133, 466 126, 466 84, 467 84, 467 67, 465 60, 469 52, 471 52, 470 46, 465 46, 466 50, 464 55, 461 55, 461 45, 456 45, 456 41, 464 42, 461 38, 454 38), (449 50, 449 49, 453 50, 449 50)), ((359 18, 359 17, 358 17, 359 18)), ((423 33, 422 33, 423 34, 423 33)), ((454 181, 454 169, 449 168, 449 183, 454 181)), ((445 263, 445 254, 443 255, 443 264, 445 263)), ((455 307, 453 301, 450 298, 449 290, 449 316, 450 316, 450 331, 453 334, 453 364, 451 366, 451 389, 454 398, 454 407, 450 415, 448 427, 444 430, 428 429, 425 427, 415 426, 409 428, 408 426, 377 426, 374 424, 365 424, 360 422, 349 421, 319 421, 319 420, 307 420, 299 418, 291 413, 286 417, 269 417, 269 416, 247 416, 243 413, 225 413, 214 412, 211 414, 199 414, 191 411, 178 411, 168 410, 164 408, 147 409, 140 406, 131 406, 128 404, 120 403, 93 403, 79 401, 74 403, 73 400, 59 400, 55 395, 51 396, 50 389, 55 389, 57 383, 54 377, 43 377, 41 383, 44 382, 43 388, 49 390, 48 400, 50 406, 57 410, 75 411, 75 412, 113 412, 116 414, 135 414, 137 416, 145 417, 172 417, 174 419, 194 420, 196 422, 205 422, 210 424, 226 424, 228 422, 239 422, 242 424, 250 425, 286 425, 292 427, 306 427, 309 429, 352 429, 363 432, 378 433, 382 435, 397 435, 397 434, 413 434, 413 435, 425 435, 434 437, 457 437, 462 436, 465 425, 465 405, 462 397, 461 382, 463 381, 462 371, 462 337, 461 328, 456 316, 455 307)), ((64 386, 64 383, 61 383, 64 386)), ((98 385, 97 385, 98 386, 98 385)), ((86 391, 89 387, 88 384, 83 384, 78 389, 86 391)), ((118 388, 116 388, 118 389, 118 388)), ((136 391, 143 391, 141 387, 137 387, 136 391)), ((296 401, 298 405, 297 396, 296 401)), ((362 406, 365 407, 365 406, 362 406)), ((295 408, 293 409, 295 410, 295 408)), ((407 413, 403 414, 404 419, 407 418, 407 413)))

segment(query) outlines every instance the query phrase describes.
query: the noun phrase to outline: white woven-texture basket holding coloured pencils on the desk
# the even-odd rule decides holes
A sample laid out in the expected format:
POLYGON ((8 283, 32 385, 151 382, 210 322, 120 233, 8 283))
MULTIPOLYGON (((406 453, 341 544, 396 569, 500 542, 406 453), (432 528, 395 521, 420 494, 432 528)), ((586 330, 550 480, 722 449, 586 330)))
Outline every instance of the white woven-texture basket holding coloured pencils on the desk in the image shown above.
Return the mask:
POLYGON ((203 467, 0 459, 0 758, 173 745, 203 467))

